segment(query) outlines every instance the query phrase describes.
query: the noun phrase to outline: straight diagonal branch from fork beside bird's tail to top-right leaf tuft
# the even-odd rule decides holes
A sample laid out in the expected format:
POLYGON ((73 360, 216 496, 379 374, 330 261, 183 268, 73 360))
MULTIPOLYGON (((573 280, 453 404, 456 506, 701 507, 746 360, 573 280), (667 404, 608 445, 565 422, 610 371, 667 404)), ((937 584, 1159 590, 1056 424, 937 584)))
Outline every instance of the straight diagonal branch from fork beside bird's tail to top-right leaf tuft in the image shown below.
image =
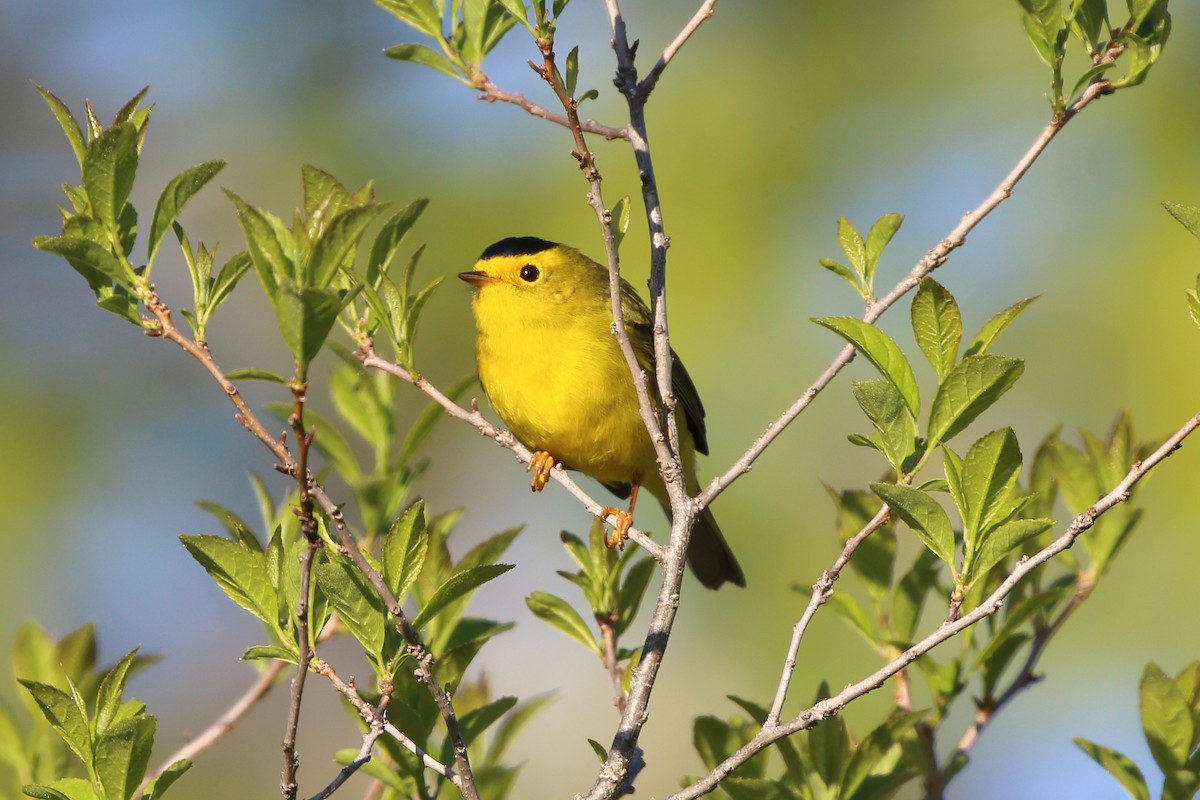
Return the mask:
MULTIPOLYGON (((1102 95, 1108 94, 1109 84, 1104 82, 1098 82, 1090 84, 1087 89, 1070 104, 1062 116, 1052 118, 1043 128, 1042 133, 1033 142, 1025 155, 1021 156, 1016 166, 1013 167, 1012 172, 1004 176, 1004 180, 989 194, 983 203, 976 206, 973 210, 967 211, 962 215, 959 224, 937 243, 936 247, 930 249, 922 257, 919 261, 910 270, 910 272, 899 282, 882 299, 868 306, 866 313, 863 314, 863 321, 875 323, 880 317, 883 315, 889 307, 892 307, 900 297, 902 297, 910 289, 920 283, 920 279, 940 267, 950 257, 950 253, 962 246, 966 241, 967 234, 971 233, 976 225, 978 225, 989 213, 991 213, 996 206, 1007 200, 1013 196, 1018 182, 1025 176, 1033 162, 1045 151, 1050 142, 1058 134, 1058 132, 1075 118, 1081 110, 1084 110, 1088 104, 1102 95)), ((854 348, 852 345, 846 345, 838 353, 836 357, 829 363, 824 372, 822 372, 812 384, 800 393, 792 405, 790 405, 779 417, 776 417, 767 429, 754 440, 750 449, 746 450, 722 475, 713 479, 713 481, 696 497, 696 503, 700 507, 703 507, 713 501, 718 494, 724 492, 738 476, 750 471, 751 465, 763 453, 764 450, 770 445, 772 441, 779 437, 780 433, 787 428, 788 425, 796 420, 800 413, 809 407, 812 399, 834 379, 834 377, 841 372, 842 367, 850 363, 854 357, 854 348)))

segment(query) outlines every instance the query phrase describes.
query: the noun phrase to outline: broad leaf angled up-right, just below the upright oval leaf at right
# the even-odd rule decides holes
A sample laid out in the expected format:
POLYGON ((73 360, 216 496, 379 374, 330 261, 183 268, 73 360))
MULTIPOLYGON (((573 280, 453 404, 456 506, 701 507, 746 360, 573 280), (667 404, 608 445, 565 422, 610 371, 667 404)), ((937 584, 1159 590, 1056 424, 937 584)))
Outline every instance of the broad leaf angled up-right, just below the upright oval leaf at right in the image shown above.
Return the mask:
POLYGON ((967 356, 937 387, 929 413, 928 447, 948 441, 1013 387, 1025 362, 1000 355, 967 356))

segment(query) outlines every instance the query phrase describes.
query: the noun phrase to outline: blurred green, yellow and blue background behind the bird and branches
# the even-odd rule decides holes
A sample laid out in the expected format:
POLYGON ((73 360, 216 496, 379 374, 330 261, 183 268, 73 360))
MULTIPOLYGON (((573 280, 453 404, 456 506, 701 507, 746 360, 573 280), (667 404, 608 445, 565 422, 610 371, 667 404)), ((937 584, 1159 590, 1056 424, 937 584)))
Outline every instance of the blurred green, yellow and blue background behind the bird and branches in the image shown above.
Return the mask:
MULTIPOLYGON (((626 5, 643 66, 695 6, 626 5)), ((1001 339, 998 351, 1028 365, 984 420, 1012 422, 1026 452, 1058 425, 1103 432, 1118 409, 1134 414, 1145 438, 1165 437, 1196 410, 1200 333, 1183 289, 1200 270, 1200 243, 1159 201, 1200 204, 1200 7, 1174 5, 1174 40, 1148 83, 1072 122, 937 275, 971 330, 1044 293, 1001 339)), ((566 133, 380 54, 414 40, 366 0, 0 7, 0 643, 28 619, 56 634, 95 620, 106 661, 136 644, 162 654, 131 690, 160 717, 161 756, 253 680, 236 657, 258 642, 256 625, 175 536, 216 533, 196 499, 256 518, 250 470, 277 491, 283 483, 194 363, 96 309, 74 272, 29 246, 56 230, 58 186, 78 178, 30 82, 77 113, 91 98, 103 119, 150 84, 156 110, 133 197, 144 219, 170 175, 209 158, 229 162, 220 185, 286 215, 299 201, 300 164, 312 163, 350 185, 374 180, 388 201, 432 198, 412 239, 428 246, 425 279, 468 269, 505 235, 600 252, 566 133)), ((601 5, 576 0, 559 41, 562 53, 580 44, 581 86, 601 91, 587 112, 622 124, 601 5)), ((524 66, 534 54, 514 31, 485 66, 500 86, 550 103, 524 66)), ((1048 83, 1009 0, 719 6, 667 72, 649 115, 672 236, 673 344, 708 408, 708 474, 746 447, 839 348, 809 318, 858 313, 850 290, 816 264, 840 255, 838 215, 864 230, 883 212, 906 215, 878 278, 890 285, 1033 140, 1048 118, 1048 83)), ((636 197, 628 150, 595 149, 610 203, 636 197)), ((226 257, 240 247, 232 206, 215 188, 193 200, 184 223, 193 241, 220 241, 226 257)), ((635 215, 624 246, 635 284, 647 273, 640 224, 635 215)), ((156 277, 168 303, 186 306, 180 263, 160 260, 156 277)), ((450 279, 426 314, 419 363, 434 381, 474 368, 467 303, 467 288, 450 279)), ((886 326, 914 353, 906 319, 898 308, 886 326)), ((251 278, 218 313, 211 339, 227 367, 288 368, 251 278)), ((859 487, 880 473, 845 439, 866 427, 848 389, 865 374, 854 365, 715 506, 750 588, 709 594, 689 582, 643 739, 646 796, 698 770, 695 714, 732 712, 731 693, 770 697, 803 607, 791 587, 811 584, 836 551, 822 482, 859 487)), ((256 402, 271 398, 253 391, 256 402)), ((312 393, 322 399, 319 389, 312 393)), ((421 405, 410 397, 404 414, 421 405)), ((558 697, 520 741, 518 796, 583 790, 596 766, 586 738, 611 736, 607 682, 589 655, 530 616, 523 597, 572 591, 553 575, 569 566, 556 534, 586 533, 588 518, 560 491, 530 498, 511 457, 461 426, 445 423, 428 453, 433 465, 419 491, 432 510, 466 506, 460 546, 527 525, 510 554, 518 567, 481 593, 478 607, 517 621, 484 651, 493 690, 558 697)), ((1174 673, 1200 656, 1198 469, 1196 447, 1187 446, 1145 486, 1150 515, 1132 546, 1048 654, 1046 680, 988 729, 950 796, 1121 796, 1070 744, 1076 735, 1129 753, 1159 780, 1141 741, 1136 681, 1147 660, 1174 673)), ((655 515, 642 524, 661 530, 655 515)), ((365 673, 353 649, 343 658, 346 673, 365 673)), ((793 697, 810 698, 821 680, 852 682, 875 663, 822 614, 793 697)), ((332 748, 356 746, 332 693, 310 686, 300 742, 307 793, 334 774, 332 748)), ((0 697, 11 700, 12 691, 5 682, 0 697)), ((282 696, 204 756, 173 796, 272 796, 282 696)), ((851 724, 863 730, 884 703, 856 704, 851 724)))

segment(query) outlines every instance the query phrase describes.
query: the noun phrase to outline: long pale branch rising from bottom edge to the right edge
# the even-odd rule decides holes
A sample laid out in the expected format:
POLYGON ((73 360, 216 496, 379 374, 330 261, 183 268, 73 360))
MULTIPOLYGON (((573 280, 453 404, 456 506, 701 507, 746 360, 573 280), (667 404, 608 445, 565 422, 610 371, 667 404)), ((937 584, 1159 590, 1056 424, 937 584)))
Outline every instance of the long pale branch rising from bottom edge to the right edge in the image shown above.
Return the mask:
POLYGON ((720 783, 720 781, 724 780, 730 772, 744 764, 756 753, 764 750, 767 746, 785 736, 790 736, 793 733, 811 728, 826 717, 838 714, 846 706, 846 704, 881 687, 889 678, 908 667, 908 664, 940 645, 942 642, 946 642, 976 622, 997 613, 1001 608, 1003 608, 1004 599, 1008 597, 1013 589, 1016 588, 1016 584, 1019 584, 1026 575, 1042 564, 1045 564, 1058 553, 1068 549, 1075 543, 1075 540, 1096 524, 1096 519, 1098 517, 1108 512, 1110 509, 1114 509, 1115 506, 1128 500, 1129 492, 1134 485, 1145 477, 1150 470, 1160 464, 1168 456, 1178 450, 1183 440, 1198 427, 1200 427, 1200 413, 1195 414, 1192 419, 1184 422, 1178 431, 1176 431, 1165 443, 1163 443, 1162 446, 1159 446, 1144 461, 1136 462, 1133 467, 1130 467, 1129 471, 1126 473, 1126 476, 1121 480, 1121 482, 1109 491, 1108 494, 1097 500, 1090 509, 1072 519, 1070 524, 1067 525, 1067 529, 1061 536, 1058 536, 1058 539, 1054 540, 1033 555, 1021 559, 1014 567, 1013 572, 1009 573, 1000 587, 997 587, 995 591, 992 591, 970 613, 964 614, 956 620, 947 620, 942 622, 932 633, 901 652, 883 667, 878 668, 858 682, 851 684, 833 697, 816 703, 788 722, 784 724, 763 723, 760 732, 746 745, 718 764, 716 768, 704 777, 684 788, 682 792, 670 795, 668 800, 694 800, 695 798, 708 794, 716 788, 716 784, 720 783))

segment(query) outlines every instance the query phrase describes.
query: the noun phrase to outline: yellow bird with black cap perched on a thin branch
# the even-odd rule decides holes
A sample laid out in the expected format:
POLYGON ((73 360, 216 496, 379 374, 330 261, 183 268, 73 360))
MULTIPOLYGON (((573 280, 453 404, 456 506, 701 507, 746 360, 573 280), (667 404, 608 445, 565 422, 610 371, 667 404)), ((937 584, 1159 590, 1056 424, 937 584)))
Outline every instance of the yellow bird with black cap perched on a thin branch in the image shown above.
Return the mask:
MULTIPOLYGON (((511 236, 484 249, 458 277, 473 287, 479 381, 509 431, 533 452, 530 488, 540 492, 554 465, 595 479, 629 510, 604 509, 624 543, 637 492, 644 488, 671 517, 658 453, 642 421, 634 378, 617 337, 608 270, 582 252, 538 236, 511 236)), ((620 281, 625 332, 655 386, 650 309, 620 281)), ((679 461, 688 494, 700 492, 696 452, 708 455, 704 407, 671 351, 679 461)), ((658 411, 658 408, 655 408, 658 411)), ((706 507, 696 518, 688 564, 700 583, 745 585, 742 566, 706 507)))

